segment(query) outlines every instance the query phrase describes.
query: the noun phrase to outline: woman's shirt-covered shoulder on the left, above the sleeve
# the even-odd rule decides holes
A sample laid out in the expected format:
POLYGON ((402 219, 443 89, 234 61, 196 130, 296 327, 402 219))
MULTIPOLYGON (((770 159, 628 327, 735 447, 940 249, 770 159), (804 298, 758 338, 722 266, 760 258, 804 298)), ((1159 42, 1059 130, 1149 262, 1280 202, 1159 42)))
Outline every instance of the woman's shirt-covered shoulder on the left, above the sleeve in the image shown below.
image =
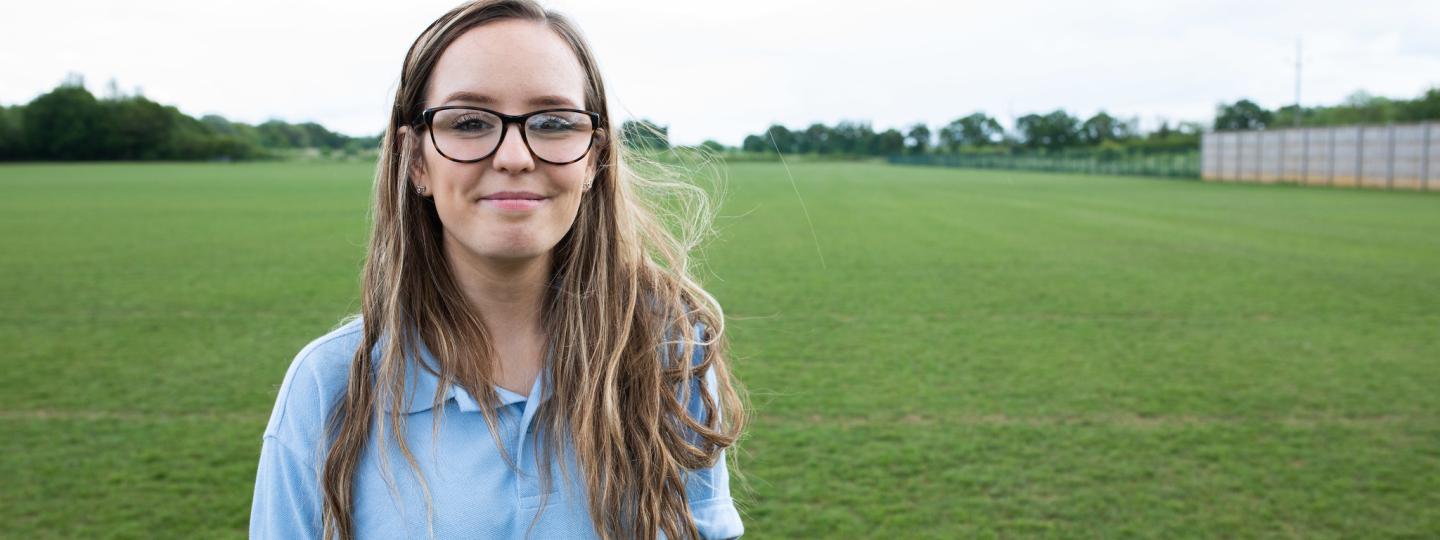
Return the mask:
POLYGON ((301 347, 279 384, 266 438, 292 448, 320 442, 330 410, 350 380, 350 364, 363 337, 361 320, 353 318, 301 347))

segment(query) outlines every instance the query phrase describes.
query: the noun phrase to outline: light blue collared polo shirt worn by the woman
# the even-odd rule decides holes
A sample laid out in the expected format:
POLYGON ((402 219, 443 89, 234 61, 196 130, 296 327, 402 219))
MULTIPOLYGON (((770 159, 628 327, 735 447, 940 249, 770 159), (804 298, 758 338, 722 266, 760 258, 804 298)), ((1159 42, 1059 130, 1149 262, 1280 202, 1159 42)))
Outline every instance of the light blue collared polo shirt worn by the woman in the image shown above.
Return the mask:
MULTIPOLYGON (((696 325, 696 337, 704 327, 696 325)), ((320 469, 327 451, 325 422, 334 403, 344 395, 350 363, 361 341, 357 318, 307 344, 281 384, 269 425, 265 428, 255 500, 251 507, 252 539, 318 539, 321 534, 320 469)), ((379 357, 383 340, 376 346, 379 357)), ((432 353, 420 346, 420 359, 436 366, 432 353)), ((696 348, 693 361, 701 359, 696 348)), ((536 377, 527 396, 495 386, 498 393, 500 439, 517 459, 520 474, 511 469, 495 446, 480 403, 465 389, 452 386, 445 395, 439 431, 435 432, 435 392, 439 379, 410 361, 406 373, 406 442, 419 472, 429 485, 433 505, 435 539, 592 539, 585 484, 573 452, 566 448, 566 478, 552 464, 554 477, 541 508, 541 487, 536 468, 536 449, 527 432, 536 429, 534 413, 549 397, 544 372, 536 377), (539 396, 539 399, 534 399, 539 396), (432 436, 433 435, 433 436, 432 436), (543 510, 543 513, 541 513, 543 510), (531 527, 531 520, 537 516, 531 527), (528 533, 528 536, 527 536, 528 533)), ((716 384, 706 373, 706 389, 716 384)), ((700 382, 691 387, 690 412, 703 416, 700 382)), ((425 494, 393 438, 384 456, 389 478, 379 467, 376 442, 366 448, 354 478, 354 524, 357 539, 429 539, 425 494)), ((569 445, 564 445, 569 446, 569 445)), ((696 527, 706 539, 732 539, 744 533, 740 514, 730 498, 730 475, 724 455, 714 467, 690 471, 685 492, 696 527)))

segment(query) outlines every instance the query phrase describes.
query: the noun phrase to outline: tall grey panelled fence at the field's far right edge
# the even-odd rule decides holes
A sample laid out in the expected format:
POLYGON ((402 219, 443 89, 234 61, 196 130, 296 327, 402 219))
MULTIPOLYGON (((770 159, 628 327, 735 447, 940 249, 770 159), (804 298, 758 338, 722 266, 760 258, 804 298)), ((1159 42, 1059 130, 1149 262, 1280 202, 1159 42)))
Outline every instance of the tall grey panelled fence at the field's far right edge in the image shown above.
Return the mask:
POLYGON ((1440 190, 1440 122, 1207 132, 1201 179, 1440 190))

